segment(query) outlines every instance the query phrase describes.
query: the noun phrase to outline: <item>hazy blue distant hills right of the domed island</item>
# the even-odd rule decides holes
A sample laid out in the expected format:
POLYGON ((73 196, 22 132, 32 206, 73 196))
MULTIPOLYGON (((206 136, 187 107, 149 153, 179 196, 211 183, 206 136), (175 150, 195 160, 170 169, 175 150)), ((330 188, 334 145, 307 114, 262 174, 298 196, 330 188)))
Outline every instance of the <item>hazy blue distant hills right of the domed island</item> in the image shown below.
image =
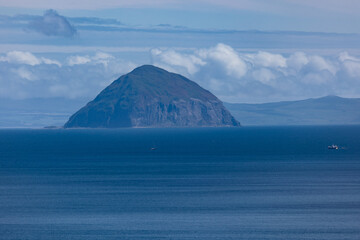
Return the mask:
POLYGON ((360 124, 360 98, 327 96, 263 104, 224 103, 243 125, 360 124))

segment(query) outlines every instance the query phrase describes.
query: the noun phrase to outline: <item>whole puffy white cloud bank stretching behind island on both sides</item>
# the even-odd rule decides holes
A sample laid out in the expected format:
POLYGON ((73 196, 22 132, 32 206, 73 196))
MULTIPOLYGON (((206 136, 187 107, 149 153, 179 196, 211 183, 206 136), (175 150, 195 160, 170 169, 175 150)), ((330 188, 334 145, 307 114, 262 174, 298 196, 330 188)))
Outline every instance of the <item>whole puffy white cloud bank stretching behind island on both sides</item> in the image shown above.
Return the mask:
POLYGON ((271 102, 326 95, 360 97, 360 57, 210 48, 154 48, 132 62, 104 51, 49 57, 26 51, 0 54, 0 98, 87 98, 143 64, 183 74, 228 102, 271 102))

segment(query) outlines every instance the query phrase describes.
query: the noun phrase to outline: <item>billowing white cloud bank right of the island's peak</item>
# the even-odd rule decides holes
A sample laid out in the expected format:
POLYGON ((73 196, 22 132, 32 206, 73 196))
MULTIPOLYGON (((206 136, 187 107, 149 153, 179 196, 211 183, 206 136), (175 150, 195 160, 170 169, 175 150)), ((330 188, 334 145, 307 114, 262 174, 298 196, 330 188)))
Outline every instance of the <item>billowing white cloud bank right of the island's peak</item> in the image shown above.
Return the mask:
POLYGON ((197 81, 229 102, 269 102, 326 95, 360 97, 360 58, 342 52, 241 53, 225 44, 181 53, 153 49, 153 64, 197 81))

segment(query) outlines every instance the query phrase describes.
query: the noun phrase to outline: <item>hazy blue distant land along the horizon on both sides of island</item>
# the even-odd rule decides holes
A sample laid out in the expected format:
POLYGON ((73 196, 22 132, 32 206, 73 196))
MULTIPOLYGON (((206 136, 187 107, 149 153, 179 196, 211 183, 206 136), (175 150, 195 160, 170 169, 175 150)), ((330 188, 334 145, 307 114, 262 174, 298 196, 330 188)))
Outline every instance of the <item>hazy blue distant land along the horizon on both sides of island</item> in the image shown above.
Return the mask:
MULTIPOLYGON (((86 99, 0 100, 0 127, 61 126, 86 99)), ((335 96, 264 104, 224 103, 245 126, 360 124, 360 99, 335 96)))

